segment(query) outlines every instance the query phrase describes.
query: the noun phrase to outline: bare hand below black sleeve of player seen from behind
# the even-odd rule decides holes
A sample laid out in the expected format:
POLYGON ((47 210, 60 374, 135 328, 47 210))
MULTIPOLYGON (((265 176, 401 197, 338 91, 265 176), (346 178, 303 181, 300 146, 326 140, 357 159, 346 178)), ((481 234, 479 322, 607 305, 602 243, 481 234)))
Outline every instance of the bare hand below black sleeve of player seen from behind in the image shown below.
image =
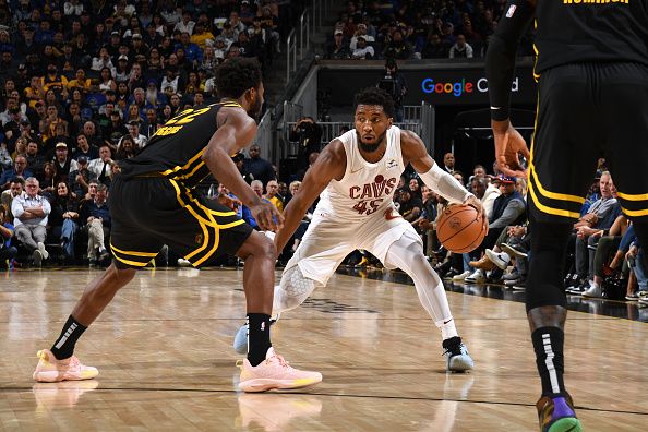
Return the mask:
POLYGON ((527 170, 521 166, 519 156, 530 160, 531 153, 525 139, 508 120, 491 121, 495 140, 495 159, 497 167, 506 176, 527 177, 527 170))

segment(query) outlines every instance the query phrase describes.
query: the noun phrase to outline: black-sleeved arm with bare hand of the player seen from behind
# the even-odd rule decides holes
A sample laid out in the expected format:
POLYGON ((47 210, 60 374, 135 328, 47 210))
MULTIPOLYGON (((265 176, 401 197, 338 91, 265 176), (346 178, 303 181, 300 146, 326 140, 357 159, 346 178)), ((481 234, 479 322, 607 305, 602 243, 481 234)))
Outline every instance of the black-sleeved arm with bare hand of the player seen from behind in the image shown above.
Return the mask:
POLYGON ((529 148, 511 124, 511 84, 515 74, 515 53, 519 39, 533 19, 536 0, 508 2, 487 52, 487 77, 491 101, 491 127, 495 141, 495 158, 502 172, 526 177, 519 155, 530 158, 529 148))

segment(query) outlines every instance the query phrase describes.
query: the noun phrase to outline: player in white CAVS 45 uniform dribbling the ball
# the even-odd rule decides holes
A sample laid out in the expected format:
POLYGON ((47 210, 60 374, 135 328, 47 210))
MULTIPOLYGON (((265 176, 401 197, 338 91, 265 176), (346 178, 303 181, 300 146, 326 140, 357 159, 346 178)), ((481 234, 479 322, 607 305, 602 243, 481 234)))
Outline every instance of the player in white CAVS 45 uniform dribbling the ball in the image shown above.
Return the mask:
MULTIPOLYGON (((356 95, 356 129, 328 144, 307 171, 299 193, 288 204, 284 228, 275 237, 284 249, 302 216, 320 194, 320 203, 299 248, 275 287, 273 313, 300 305, 324 287, 343 260, 356 249, 376 256, 386 268, 400 268, 415 283, 419 299, 441 328, 448 371, 472 369, 447 303, 443 283, 423 253, 421 237, 394 207, 394 191, 407 164, 433 191, 452 203, 483 208, 452 175, 439 168, 415 133, 392 125, 394 103, 382 89, 356 95)), ((235 349, 245 352, 245 327, 235 349)))

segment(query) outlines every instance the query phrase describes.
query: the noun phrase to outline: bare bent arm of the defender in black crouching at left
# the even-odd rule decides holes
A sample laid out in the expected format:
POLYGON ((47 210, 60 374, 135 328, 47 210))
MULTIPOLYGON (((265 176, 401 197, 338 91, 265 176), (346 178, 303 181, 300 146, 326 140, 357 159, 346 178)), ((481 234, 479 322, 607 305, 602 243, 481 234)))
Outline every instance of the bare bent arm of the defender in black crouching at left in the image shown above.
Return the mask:
POLYGON ((284 216, 272 203, 261 201, 252 188, 245 183, 230 157, 252 142, 256 134, 256 123, 241 109, 221 108, 223 110, 227 110, 225 111, 227 116, 212 135, 202 159, 214 178, 227 184, 235 195, 250 208, 254 220, 261 228, 275 231, 283 226, 284 216))

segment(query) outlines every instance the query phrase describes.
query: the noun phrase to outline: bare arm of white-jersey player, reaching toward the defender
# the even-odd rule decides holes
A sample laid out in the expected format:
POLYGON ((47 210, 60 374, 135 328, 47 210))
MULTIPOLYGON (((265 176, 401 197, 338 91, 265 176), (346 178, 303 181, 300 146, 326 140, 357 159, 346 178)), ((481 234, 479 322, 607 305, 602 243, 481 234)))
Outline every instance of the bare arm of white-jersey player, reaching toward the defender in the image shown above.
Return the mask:
POLYGON ((331 180, 340 180, 346 168, 347 156, 344 144, 339 140, 333 140, 317 156, 315 164, 305 172, 299 191, 284 209, 284 228, 275 237, 277 251, 284 250, 315 199, 326 189, 331 180))

